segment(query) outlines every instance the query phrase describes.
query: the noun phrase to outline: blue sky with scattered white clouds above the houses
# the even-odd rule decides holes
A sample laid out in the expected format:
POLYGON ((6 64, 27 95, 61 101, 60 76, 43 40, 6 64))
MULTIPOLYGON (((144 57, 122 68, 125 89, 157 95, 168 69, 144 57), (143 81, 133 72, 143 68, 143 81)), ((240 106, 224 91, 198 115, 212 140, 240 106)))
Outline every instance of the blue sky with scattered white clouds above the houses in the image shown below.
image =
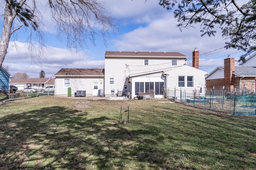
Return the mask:
MULTIPOLYGON (((116 25, 119 25, 119 32, 110 34, 107 46, 101 36, 97 36, 95 47, 88 42, 86 49, 71 53, 66 49, 66 42, 59 41, 56 34, 49 31, 54 30, 54 25, 48 20, 45 32, 48 47, 44 50, 46 59, 35 59, 34 62, 29 56, 26 57, 28 33, 22 29, 15 42, 18 50, 14 48, 11 38, 3 66, 8 66, 11 74, 26 72, 30 78, 38 78, 40 70, 44 70, 47 78, 68 66, 104 68, 106 51, 179 52, 187 55, 188 64, 192 65, 192 51, 197 48, 200 51, 199 69, 210 73, 217 66, 223 66, 228 55, 238 60, 244 54, 236 49, 223 48, 225 41, 221 37, 221 30, 217 29, 215 37, 200 37, 199 25, 181 32, 176 27, 178 23, 172 17, 173 13, 159 6, 155 0, 148 0, 146 3, 144 0, 106 0, 105 8, 110 16, 116 18, 116 25)), ((49 16, 45 12, 45 19, 47 18, 49 16)))

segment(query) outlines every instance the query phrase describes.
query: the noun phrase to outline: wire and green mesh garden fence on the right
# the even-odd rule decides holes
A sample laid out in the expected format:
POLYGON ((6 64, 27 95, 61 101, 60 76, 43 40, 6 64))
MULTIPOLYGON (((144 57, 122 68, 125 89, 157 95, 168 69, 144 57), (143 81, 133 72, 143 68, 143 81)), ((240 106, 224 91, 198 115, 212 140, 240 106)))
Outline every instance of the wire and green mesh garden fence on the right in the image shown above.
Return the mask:
POLYGON ((233 115, 256 115, 255 93, 227 92, 226 90, 182 90, 168 89, 166 96, 188 106, 233 115))

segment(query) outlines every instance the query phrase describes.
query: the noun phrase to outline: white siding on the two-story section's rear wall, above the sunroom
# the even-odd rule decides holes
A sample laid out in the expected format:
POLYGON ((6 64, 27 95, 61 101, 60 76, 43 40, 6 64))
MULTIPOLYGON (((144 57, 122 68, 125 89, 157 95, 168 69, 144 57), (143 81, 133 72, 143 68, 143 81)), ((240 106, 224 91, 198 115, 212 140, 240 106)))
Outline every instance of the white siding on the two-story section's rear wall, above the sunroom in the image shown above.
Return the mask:
MULTIPOLYGON (((152 70, 168 69, 170 68, 170 63, 172 62, 172 58, 150 58, 148 63, 149 65, 145 66, 144 59, 145 58, 135 57, 106 57, 105 94, 110 95, 111 90, 115 90, 115 92, 117 90, 122 90, 124 85, 127 85, 127 90, 129 91, 130 86, 128 86, 128 80, 126 79, 129 75, 152 70), (114 84, 109 83, 109 78, 114 78, 114 84)), ((186 61, 184 59, 177 59, 178 65, 183 65, 185 63, 186 61)), ((150 80, 147 82, 150 82, 150 80)))

